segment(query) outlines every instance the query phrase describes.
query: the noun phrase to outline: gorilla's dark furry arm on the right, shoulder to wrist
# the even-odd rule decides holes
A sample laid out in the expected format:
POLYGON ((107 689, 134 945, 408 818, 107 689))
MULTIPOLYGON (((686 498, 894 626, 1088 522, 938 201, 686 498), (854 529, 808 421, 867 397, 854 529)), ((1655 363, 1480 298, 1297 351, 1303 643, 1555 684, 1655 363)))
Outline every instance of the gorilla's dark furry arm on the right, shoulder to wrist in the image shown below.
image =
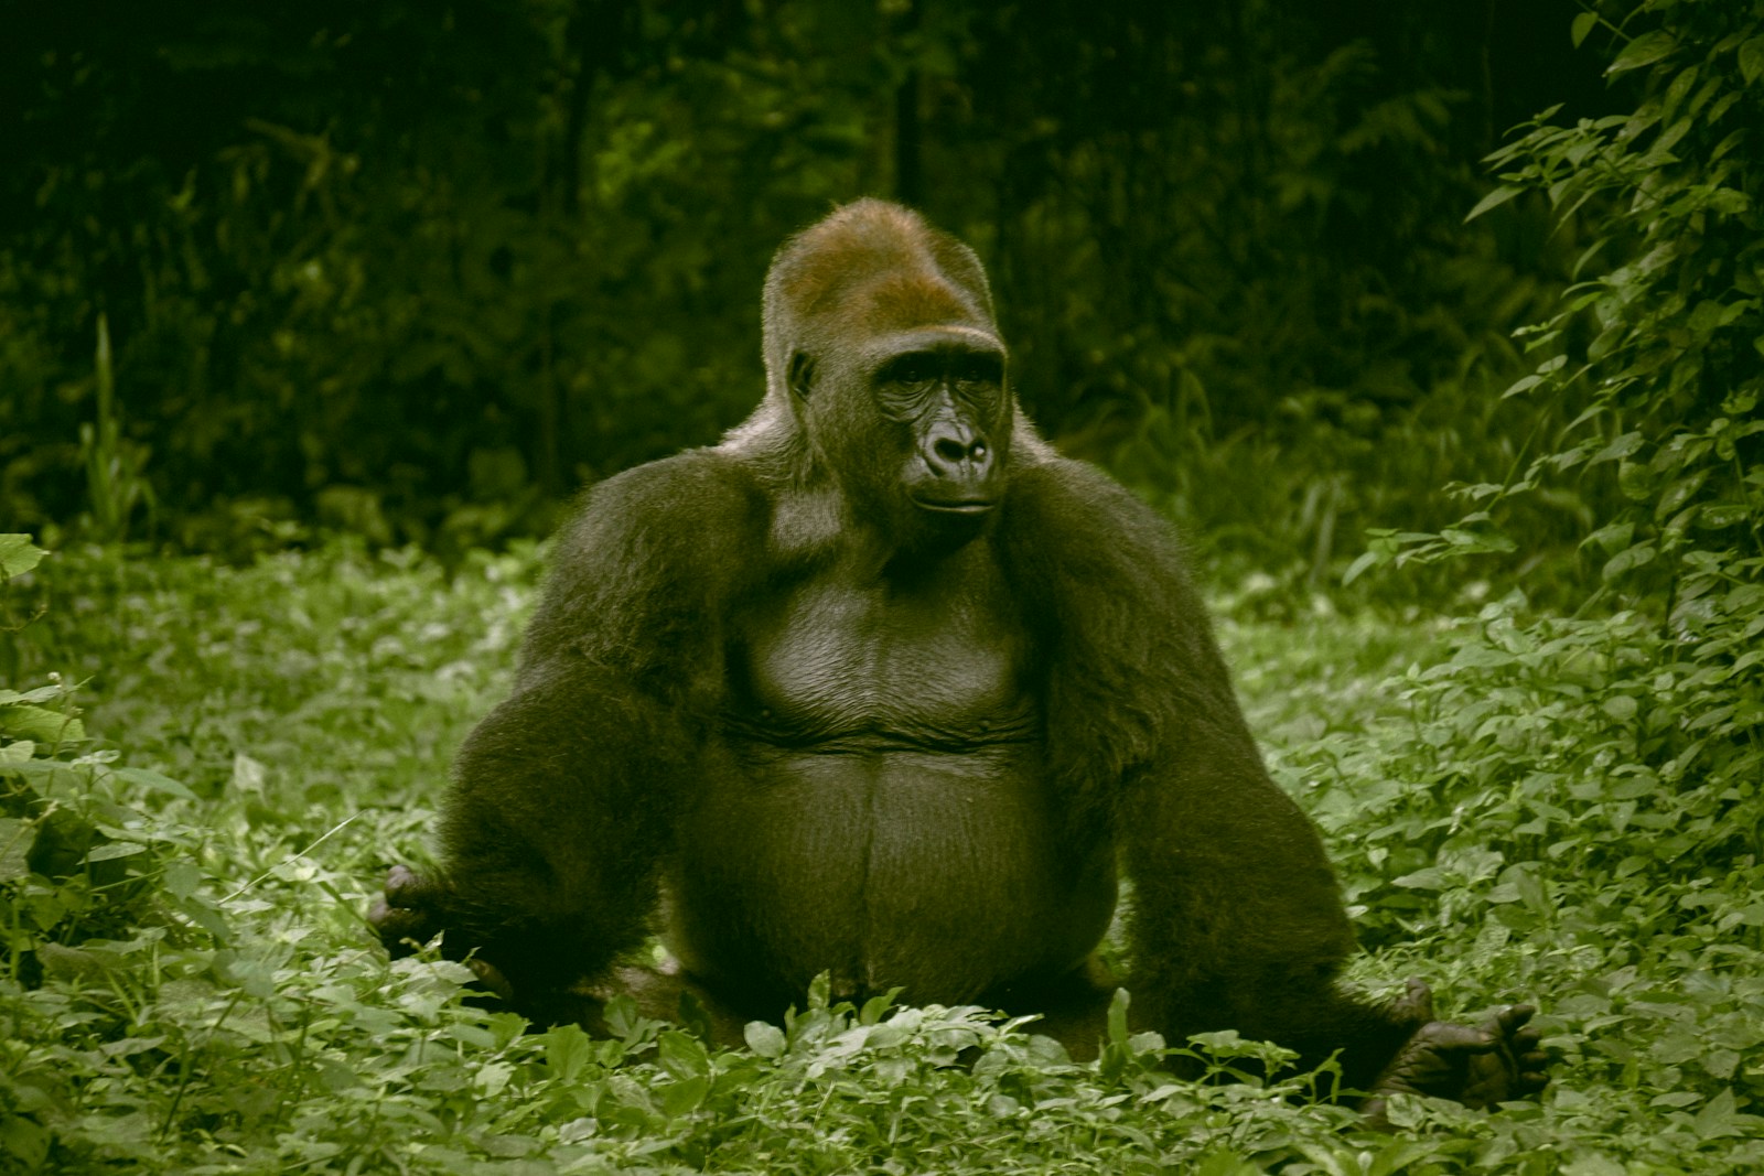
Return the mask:
MULTIPOLYGON (((1007 511, 1014 584, 1046 619, 1048 758, 1073 836, 1113 837, 1132 882, 1136 1021, 1173 1044, 1235 1028, 1305 1065, 1339 1049, 1349 1086, 1383 1090, 1431 1003, 1337 987, 1353 933, 1334 873, 1261 763, 1171 529, 1067 460, 1021 471, 1007 511)), ((1420 1054, 1491 1047, 1464 1030, 1420 1054)))

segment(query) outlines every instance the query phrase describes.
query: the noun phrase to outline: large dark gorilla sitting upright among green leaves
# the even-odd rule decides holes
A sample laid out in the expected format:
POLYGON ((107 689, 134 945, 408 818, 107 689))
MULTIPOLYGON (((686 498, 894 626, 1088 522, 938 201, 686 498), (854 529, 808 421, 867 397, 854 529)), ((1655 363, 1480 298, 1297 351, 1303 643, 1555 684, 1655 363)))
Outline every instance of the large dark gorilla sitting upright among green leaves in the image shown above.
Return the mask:
MULTIPOLYGON (((1341 1054, 1374 1105, 1544 1084, 1531 1009, 1480 1028, 1337 986, 1316 830, 1245 728, 1171 527, 1018 409, 974 252, 861 199, 780 249, 766 397, 607 480, 559 538, 512 696, 466 741, 441 869, 370 922, 593 1023, 713 1031, 838 998, 1041 1012, 1094 1053, 1131 882, 1134 1021, 1341 1054), (660 931, 667 970, 619 966, 660 931), (721 1028, 714 1028, 721 1026, 721 1028)), ((730 1028, 736 1026, 736 1028, 730 1028)))

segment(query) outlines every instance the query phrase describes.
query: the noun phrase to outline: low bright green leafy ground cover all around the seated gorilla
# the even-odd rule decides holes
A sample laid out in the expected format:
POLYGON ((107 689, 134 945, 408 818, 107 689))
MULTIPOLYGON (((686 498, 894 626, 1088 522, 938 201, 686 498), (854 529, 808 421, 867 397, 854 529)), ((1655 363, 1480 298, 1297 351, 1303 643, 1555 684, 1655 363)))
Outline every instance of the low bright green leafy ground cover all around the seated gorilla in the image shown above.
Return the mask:
POLYGON ((0 548, 7 624, 41 612, 0 661, 4 1171, 1764 1165, 1752 654, 1517 599, 1268 621, 1254 584, 1228 594, 1252 723, 1357 908, 1355 980, 1424 975, 1466 1014, 1536 998, 1561 1054, 1540 1104, 1404 1102, 1378 1135, 1309 1076, 1155 1065, 1267 1056, 1231 1035, 1117 1028, 1074 1065, 1032 1024, 824 998, 734 1053, 635 1017, 529 1031, 457 964, 390 963, 363 910, 505 686, 533 548, 453 575, 351 545, 34 559, 0 548))

